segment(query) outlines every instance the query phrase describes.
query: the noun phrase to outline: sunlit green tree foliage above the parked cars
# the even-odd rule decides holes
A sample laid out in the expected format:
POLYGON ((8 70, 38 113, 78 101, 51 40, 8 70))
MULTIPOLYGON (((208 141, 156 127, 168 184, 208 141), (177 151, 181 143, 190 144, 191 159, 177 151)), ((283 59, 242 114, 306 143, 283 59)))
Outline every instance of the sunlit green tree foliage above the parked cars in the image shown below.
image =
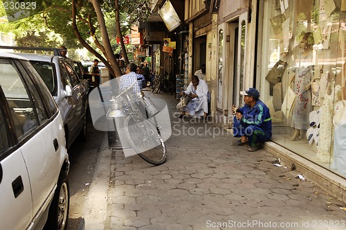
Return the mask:
MULTIPOLYGON (((0 0, 1 1, 1 0, 0 0)), ((64 46, 69 51, 75 48, 82 48, 80 42, 75 37, 72 28, 72 3, 61 0, 37 0, 42 4, 43 10, 37 15, 33 15, 18 21, 0 24, 3 33, 14 33, 18 45, 23 46, 64 46), (34 32, 35 31, 35 32, 34 32), (57 35, 53 35, 55 32, 57 35)), ((99 0, 106 26, 111 41, 113 51, 120 50, 120 45, 116 43, 116 9, 114 0, 99 0)), ((138 21, 145 21, 150 15, 149 0, 119 0, 120 4, 120 26, 122 35, 128 35, 131 25, 138 21)), ((0 16, 6 15, 0 3, 0 16)), ((95 47, 91 37, 91 30, 87 24, 89 18, 95 28, 95 37, 102 42, 100 30, 98 29, 98 19, 92 3, 89 0, 76 0, 77 5, 77 26, 83 39, 95 47)), ((72 53, 69 53, 70 55, 72 53)))

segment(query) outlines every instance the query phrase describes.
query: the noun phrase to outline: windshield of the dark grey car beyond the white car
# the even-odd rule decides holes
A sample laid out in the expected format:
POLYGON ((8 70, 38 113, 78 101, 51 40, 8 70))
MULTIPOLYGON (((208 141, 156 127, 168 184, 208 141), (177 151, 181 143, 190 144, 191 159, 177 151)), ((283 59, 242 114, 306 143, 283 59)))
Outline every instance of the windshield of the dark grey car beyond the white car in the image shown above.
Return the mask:
POLYGON ((36 69, 39 76, 41 76, 42 80, 48 87, 49 91, 53 96, 57 96, 56 89, 56 80, 54 76, 53 64, 50 62, 39 62, 39 61, 30 61, 33 64, 33 67, 36 69))

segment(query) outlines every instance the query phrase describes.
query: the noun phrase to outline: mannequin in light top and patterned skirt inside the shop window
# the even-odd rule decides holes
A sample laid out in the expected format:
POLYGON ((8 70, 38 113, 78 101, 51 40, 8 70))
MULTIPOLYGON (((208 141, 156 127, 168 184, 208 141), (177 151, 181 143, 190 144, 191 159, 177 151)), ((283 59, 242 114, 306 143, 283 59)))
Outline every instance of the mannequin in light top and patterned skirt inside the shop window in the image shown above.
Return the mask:
POLYGON ((295 92, 293 107, 294 132, 290 141, 304 138, 309 127, 309 113, 312 111, 310 88, 313 66, 307 64, 307 62, 312 62, 313 34, 311 32, 302 32, 300 37, 301 41, 298 46, 302 51, 299 53, 299 62, 295 69, 296 74, 290 80, 290 84, 294 82, 292 89, 295 92))

